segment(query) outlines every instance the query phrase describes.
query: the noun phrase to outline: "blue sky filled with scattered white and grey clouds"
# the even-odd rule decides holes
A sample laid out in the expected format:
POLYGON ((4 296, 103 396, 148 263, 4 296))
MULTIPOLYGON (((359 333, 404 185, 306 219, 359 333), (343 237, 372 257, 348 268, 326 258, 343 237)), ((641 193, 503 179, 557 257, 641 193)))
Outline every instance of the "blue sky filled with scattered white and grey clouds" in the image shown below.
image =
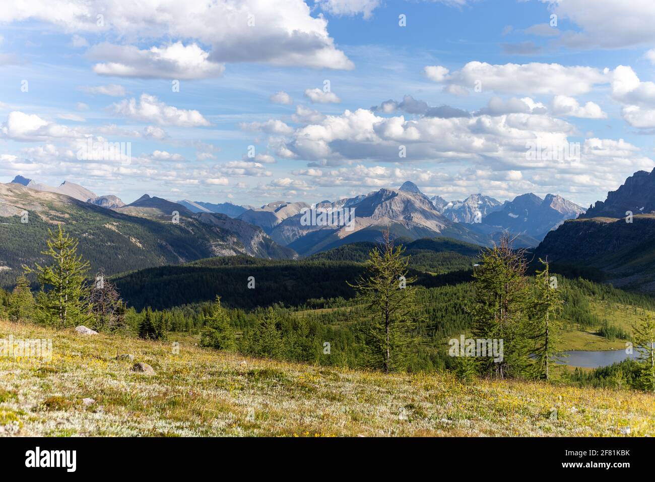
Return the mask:
POLYGON ((655 165, 651 2, 125 5, 0 12, 1 181, 261 205, 412 180, 588 205, 655 165), (131 159, 80 159, 88 139, 131 159))

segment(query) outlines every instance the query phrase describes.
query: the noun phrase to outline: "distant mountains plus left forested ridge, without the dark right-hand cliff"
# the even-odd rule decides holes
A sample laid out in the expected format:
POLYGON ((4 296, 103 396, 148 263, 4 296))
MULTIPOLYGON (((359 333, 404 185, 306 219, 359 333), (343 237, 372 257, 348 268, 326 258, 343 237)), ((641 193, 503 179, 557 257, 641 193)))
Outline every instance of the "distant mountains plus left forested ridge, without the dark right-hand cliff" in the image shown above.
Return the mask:
POLYGON ((516 235, 516 245, 535 247, 539 234, 583 211, 555 195, 541 199, 527 194, 501 204, 474 194, 442 205, 440 212, 435 197, 428 197, 410 181, 398 189, 383 188, 315 205, 275 201, 261 207, 188 199, 176 203, 148 194, 125 204, 118 197, 98 196, 68 181, 52 188, 22 176, 1 186, 0 217, 9 222, 0 224, 0 241, 7 247, 0 250, 0 281, 15 279, 20 264, 40 260, 43 247, 39 243, 47 227, 60 223, 75 237, 96 240, 103 249, 84 254, 94 267, 102 266, 111 274, 126 266, 140 269, 210 256, 309 256, 351 243, 379 241, 387 228, 407 241, 447 237, 477 246, 491 245, 502 232, 510 231, 516 235), (28 226, 16 218, 22 211, 29 212, 28 226), (324 222, 321 212, 340 213, 341 222, 338 216, 336 222, 324 222), (19 248, 16 239, 26 230, 34 232, 19 248))

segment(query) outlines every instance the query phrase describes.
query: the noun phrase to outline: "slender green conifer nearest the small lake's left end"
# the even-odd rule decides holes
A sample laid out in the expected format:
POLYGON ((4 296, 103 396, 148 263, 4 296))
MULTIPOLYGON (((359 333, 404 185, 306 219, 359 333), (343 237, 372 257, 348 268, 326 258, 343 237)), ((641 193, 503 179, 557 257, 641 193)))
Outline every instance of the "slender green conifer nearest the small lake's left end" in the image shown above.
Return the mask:
POLYGON ((531 336, 535 342, 533 349, 534 373, 537 378, 550 379, 550 366, 557 361, 561 352, 561 311, 563 300, 557 279, 552 280, 548 261, 539 260, 543 270, 536 271, 536 287, 533 300, 533 313, 530 321, 531 336))

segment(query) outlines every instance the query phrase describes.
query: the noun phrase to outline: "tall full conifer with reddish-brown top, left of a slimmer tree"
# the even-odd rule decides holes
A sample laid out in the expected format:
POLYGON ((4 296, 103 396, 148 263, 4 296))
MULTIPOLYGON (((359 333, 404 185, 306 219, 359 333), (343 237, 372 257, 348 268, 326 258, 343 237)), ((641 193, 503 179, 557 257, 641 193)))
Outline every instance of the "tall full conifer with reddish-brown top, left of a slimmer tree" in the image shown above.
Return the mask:
POLYGON ((502 361, 479 357, 481 374, 496 378, 521 376, 529 366, 526 336, 529 283, 525 250, 512 249, 512 239, 502 235, 498 245, 484 249, 473 271, 472 332, 477 338, 503 340, 502 361))

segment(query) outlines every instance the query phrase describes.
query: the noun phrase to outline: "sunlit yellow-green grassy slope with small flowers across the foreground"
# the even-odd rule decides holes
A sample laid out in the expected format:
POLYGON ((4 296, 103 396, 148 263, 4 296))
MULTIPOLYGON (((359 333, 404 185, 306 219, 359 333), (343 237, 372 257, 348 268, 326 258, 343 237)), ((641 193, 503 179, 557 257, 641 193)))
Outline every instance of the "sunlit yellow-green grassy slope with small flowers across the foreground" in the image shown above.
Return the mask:
POLYGON ((52 338, 54 356, 0 358, 5 435, 620 435, 627 426, 631 435, 655 435, 655 395, 645 393, 517 381, 467 386, 440 374, 244 359, 185 340, 174 355, 170 344, 0 321, 0 338, 9 334, 52 338), (117 352, 157 374, 130 372, 117 352), (84 397, 96 403, 85 406, 84 397), (548 418, 552 407, 557 420, 548 418))

